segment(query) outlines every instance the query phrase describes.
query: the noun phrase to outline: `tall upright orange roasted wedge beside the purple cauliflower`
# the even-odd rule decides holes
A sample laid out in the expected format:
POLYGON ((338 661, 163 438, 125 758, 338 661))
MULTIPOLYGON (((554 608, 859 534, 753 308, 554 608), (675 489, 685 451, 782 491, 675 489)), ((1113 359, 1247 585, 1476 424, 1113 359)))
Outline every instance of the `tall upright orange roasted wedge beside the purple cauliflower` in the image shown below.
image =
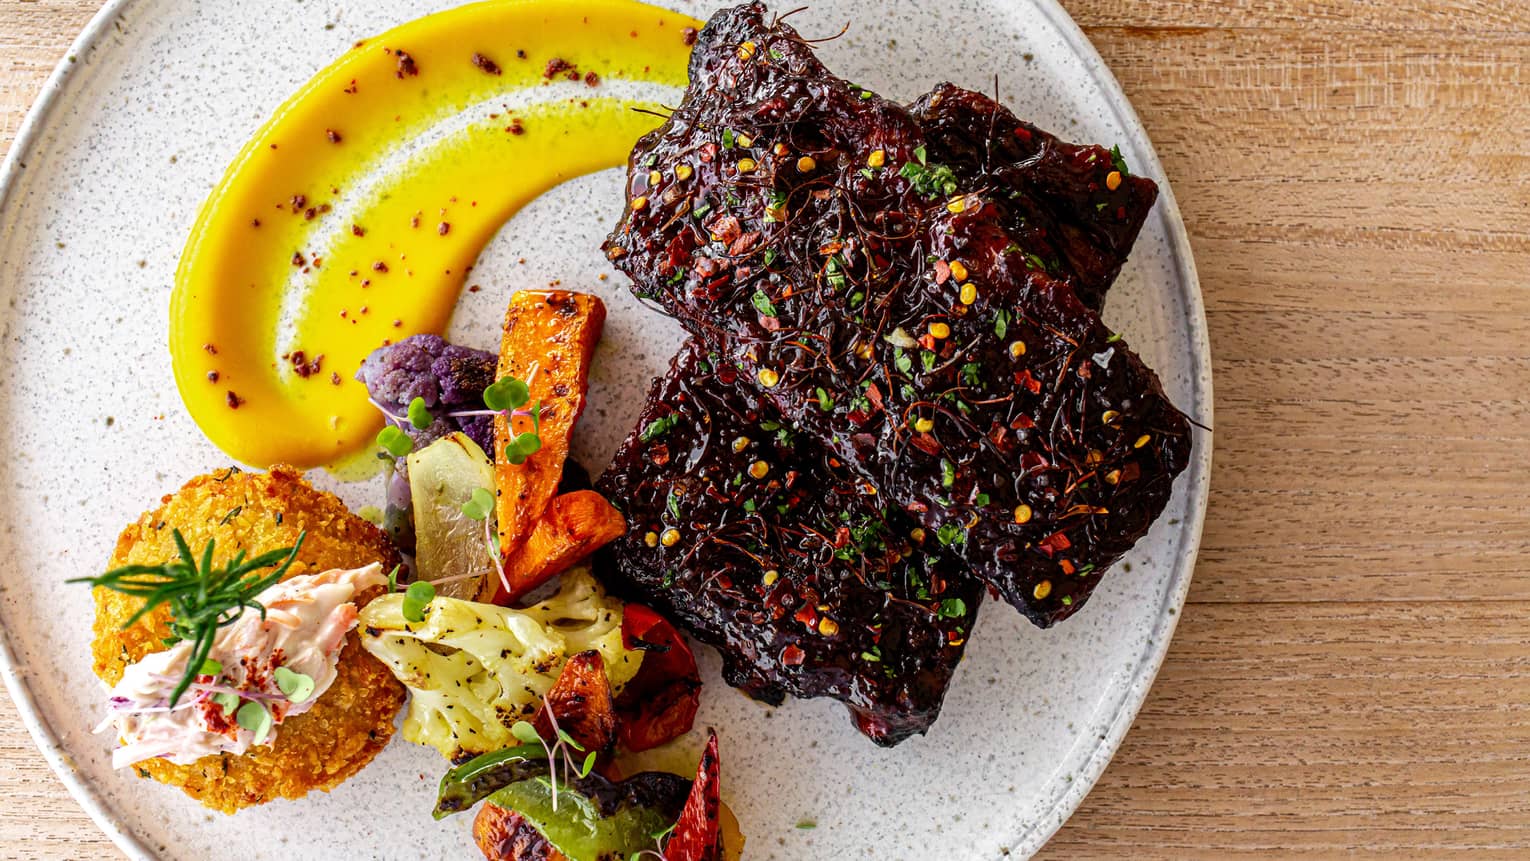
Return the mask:
POLYGON ((528 382, 529 402, 539 407, 542 447, 522 463, 511 463, 505 456, 511 431, 528 433, 534 422, 529 416, 494 419, 499 546, 505 558, 520 551, 557 494, 604 324, 606 306, 588 294, 523 291, 509 297, 499 376, 528 382))

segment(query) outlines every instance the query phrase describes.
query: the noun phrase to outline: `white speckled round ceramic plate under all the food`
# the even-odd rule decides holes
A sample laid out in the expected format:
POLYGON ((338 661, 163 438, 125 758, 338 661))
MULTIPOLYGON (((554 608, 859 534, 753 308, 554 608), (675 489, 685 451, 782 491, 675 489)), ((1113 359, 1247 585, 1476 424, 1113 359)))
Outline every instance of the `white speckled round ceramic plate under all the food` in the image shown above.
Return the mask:
MULTIPOLYGON (((468 820, 428 817, 442 763, 395 742, 334 794, 239 817, 112 772, 90 734, 90 599, 121 526, 225 463, 181 407, 165 350, 176 257, 203 196, 269 112, 360 37, 450 0, 203 3, 113 0, 43 92, 0 173, 0 665, 43 755, 135 858, 471 858, 468 820)), ((687 0, 704 17, 710 5, 687 0)), ((794 23, 838 73, 900 99, 941 80, 991 90, 1065 138, 1118 142, 1164 191, 1108 320, 1210 424, 1206 321, 1180 214, 1141 124, 1054 0, 825 0, 794 23), (875 14, 855 14, 874 9, 875 14)), ((451 336, 493 349, 511 289, 560 278, 610 304, 578 454, 600 468, 632 424, 678 329, 626 298, 598 252, 621 206, 612 171, 526 208, 480 260, 485 284, 451 336), (517 260, 526 258, 520 265, 517 260)), ((984 609, 933 731, 883 751, 837 703, 768 710, 718 679, 702 725, 722 729, 727 797, 750 858, 991 859, 1028 855, 1073 812, 1132 723, 1169 645, 1201 535, 1210 437, 1175 497, 1089 606, 1040 632, 984 609), (817 823, 812 829, 799 821, 817 823)), ((352 505, 373 485, 321 483, 352 505)))

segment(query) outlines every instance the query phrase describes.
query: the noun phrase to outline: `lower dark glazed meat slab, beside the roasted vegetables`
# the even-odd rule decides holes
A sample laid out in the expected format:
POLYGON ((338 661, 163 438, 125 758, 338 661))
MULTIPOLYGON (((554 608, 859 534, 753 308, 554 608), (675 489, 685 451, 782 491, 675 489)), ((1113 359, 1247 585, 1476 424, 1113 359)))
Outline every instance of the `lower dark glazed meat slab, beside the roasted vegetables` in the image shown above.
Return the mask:
POLYGON ((598 483, 630 526, 606 581, 718 647, 730 685, 838 699, 897 745, 935 722, 982 587, 771 414, 730 366, 681 350, 598 483))

